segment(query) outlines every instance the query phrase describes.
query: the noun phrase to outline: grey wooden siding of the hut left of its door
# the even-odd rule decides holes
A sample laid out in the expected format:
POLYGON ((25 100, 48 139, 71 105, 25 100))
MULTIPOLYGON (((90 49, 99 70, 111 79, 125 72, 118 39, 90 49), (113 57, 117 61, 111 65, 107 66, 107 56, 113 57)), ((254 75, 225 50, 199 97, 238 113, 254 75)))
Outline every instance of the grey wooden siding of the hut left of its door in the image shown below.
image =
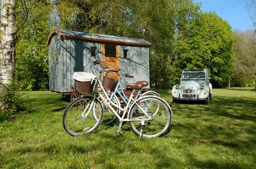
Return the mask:
POLYGON ((101 43, 55 36, 49 46, 49 90, 70 92, 69 86, 75 86, 73 74, 76 71, 92 73, 90 62, 101 61, 101 55, 101 43), (90 56, 90 47, 97 47, 96 57, 90 56))

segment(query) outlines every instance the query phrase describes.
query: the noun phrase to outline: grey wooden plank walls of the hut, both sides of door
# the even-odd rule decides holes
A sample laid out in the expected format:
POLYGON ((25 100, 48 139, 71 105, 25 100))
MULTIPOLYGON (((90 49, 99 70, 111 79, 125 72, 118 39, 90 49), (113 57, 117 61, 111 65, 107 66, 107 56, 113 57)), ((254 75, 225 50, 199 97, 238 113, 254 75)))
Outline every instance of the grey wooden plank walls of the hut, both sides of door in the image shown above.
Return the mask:
MULTIPOLYGON (((134 75, 133 79, 123 78, 122 84, 136 81, 148 81, 149 77, 149 47, 139 45, 120 45, 120 69, 122 73, 134 75), (127 58, 123 58, 123 50, 127 49, 127 58)), ((76 71, 94 73, 91 61, 102 61, 102 43, 81 39, 67 39, 53 35, 49 43, 49 90, 56 92, 71 92, 69 86, 75 86, 72 78, 76 71), (90 48, 97 47, 96 57, 90 56, 90 48)), ((100 66, 98 66, 100 67, 100 66)), ((149 88, 149 86, 147 86, 149 88)))

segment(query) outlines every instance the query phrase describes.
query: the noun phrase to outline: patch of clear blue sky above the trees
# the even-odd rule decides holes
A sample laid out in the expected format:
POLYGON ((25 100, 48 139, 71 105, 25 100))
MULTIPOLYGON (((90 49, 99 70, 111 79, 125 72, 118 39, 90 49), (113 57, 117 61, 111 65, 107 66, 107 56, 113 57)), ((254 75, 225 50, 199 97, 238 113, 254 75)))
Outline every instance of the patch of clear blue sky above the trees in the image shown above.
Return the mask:
POLYGON ((245 31, 253 28, 246 9, 246 0, 195 0, 194 2, 201 2, 201 10, 204 12, 215 11, 230 24, 232 30, 245 31))

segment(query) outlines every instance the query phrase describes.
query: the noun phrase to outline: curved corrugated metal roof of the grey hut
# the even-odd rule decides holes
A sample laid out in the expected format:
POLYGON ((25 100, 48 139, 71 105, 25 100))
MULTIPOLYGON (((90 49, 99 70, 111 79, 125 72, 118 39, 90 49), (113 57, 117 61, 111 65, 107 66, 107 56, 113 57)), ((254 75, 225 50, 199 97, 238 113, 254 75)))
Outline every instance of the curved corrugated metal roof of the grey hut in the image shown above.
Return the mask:
POLYGON ((66 31, 61 29, 53 29, 49 34, 47 40, 47 46, 51 43, 51 39, 54 35, 68 39, 84 39, 92 41, 101 41, 105 43, 119 43, 119 44, 130 44, 130 45, 142 45, 151 47, 152 45, 143 39, 131 39, 127 37, 118 37, 112 35, 100 35, 96 33, 86 33, 86 32, 76 32, 76 31, 66 31))

